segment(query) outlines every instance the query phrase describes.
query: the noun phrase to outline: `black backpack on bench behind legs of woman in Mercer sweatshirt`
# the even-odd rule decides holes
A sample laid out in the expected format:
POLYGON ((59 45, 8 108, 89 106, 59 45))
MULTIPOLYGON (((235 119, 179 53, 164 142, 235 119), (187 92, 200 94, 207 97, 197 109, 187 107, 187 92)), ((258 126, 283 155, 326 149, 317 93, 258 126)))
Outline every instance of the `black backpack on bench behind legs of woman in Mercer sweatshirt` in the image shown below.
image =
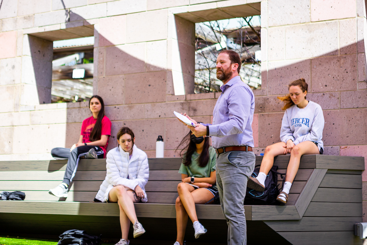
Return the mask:
MULTIPOLYGON (((260 165, 255 166, 254 172, 251 174, 251 177, 257 177, 259 174, 260 165)), ((263 192, 255 191, 250 188, 246 190, 246 197, 244 201, 244 205, 274 205, 276 201, 276 197, 279 194, 278 190, 278 174, 280 174, 281 179, 283 180, 283 184, 285 178, 282 173, 277 172, 278 166, 273 166, 265 179, 265 190, 263 192)), ((283 186, 282 184, 282 186, 283 186)))

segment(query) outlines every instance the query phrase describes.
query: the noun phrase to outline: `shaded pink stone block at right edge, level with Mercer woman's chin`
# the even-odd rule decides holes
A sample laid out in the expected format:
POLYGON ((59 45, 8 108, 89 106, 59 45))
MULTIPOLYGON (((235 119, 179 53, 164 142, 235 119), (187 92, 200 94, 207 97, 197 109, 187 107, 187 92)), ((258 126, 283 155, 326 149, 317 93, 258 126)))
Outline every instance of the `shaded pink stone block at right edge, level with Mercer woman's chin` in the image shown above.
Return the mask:
POLYGON ((340 92, 340 107, 342 109, 367 107, 367 90, 340 92))

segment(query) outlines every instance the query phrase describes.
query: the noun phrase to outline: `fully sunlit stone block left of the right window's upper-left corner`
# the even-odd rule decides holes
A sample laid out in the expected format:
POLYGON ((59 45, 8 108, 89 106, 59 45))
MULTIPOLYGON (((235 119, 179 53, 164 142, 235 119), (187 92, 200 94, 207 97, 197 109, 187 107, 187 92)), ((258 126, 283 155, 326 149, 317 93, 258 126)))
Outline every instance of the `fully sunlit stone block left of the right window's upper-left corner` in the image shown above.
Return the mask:
POLYGON ((167 39, 167 10, 156 10, 136 14, 128 14, 127 43, 147 42, 167 39), (154 19, 154 25, 147 25, 154 19))

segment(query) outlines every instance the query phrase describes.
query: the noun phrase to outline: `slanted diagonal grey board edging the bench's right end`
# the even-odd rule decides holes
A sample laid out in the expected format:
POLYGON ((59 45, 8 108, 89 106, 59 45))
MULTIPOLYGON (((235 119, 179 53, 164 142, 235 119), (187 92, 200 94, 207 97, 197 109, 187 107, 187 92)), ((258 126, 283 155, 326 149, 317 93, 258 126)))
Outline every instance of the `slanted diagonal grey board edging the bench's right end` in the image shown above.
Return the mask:
POLYGON ((299 217, 302 218, 304 215, 313 195, 319 187, 321 181, 324 178, 326 173, 326 169, 313 169, 312 174, 310 175, 307 183, 301 193, 298 196, 297 201, 295 202, 296 209, 298 211, 299 217))

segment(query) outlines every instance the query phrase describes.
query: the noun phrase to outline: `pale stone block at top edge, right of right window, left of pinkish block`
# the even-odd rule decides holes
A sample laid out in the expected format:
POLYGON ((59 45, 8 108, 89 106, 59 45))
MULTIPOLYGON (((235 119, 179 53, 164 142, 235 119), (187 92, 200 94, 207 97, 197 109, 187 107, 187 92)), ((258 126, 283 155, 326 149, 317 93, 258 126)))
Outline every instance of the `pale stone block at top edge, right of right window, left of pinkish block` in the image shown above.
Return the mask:
POLYGON ((268 26, 291 25, 310 21, 309 0, 269 0, 268 26))

